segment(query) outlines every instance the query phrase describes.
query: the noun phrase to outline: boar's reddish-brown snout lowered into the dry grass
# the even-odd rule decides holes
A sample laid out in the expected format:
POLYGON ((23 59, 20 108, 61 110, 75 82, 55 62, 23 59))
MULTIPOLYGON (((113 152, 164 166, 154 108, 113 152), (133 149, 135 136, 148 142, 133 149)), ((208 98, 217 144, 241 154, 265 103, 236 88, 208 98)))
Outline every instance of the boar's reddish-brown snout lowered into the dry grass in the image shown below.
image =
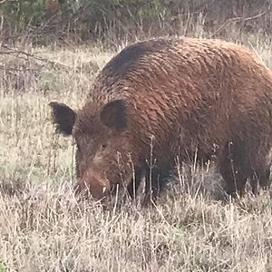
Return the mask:
POLYGON ((94 199, 102 199, 110 192, 111 186, 107 179, 103 179, 99 173, 86 170, 74 187, 76 195, 92 195, 94 199))

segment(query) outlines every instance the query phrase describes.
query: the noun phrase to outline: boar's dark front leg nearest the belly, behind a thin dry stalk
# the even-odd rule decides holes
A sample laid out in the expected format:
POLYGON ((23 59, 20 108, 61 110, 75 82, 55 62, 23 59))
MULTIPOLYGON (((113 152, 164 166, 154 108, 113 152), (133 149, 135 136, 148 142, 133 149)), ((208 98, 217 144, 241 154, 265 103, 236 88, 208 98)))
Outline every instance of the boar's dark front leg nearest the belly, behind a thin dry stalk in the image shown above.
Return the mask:
POLYGON ((170 164, 168 162, 160 162, 153 167, 146 166, 144 205, 148 205, 151 202, 156 203, 169 175, 170 164))

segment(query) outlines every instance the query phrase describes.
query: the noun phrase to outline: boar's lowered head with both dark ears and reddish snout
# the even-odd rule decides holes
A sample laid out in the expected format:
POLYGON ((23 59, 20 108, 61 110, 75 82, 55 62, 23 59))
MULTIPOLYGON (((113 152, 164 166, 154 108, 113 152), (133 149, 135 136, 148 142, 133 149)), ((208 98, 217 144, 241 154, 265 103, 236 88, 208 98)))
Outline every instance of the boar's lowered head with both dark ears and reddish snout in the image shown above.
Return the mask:
POLYGON ((50 106, 56 131, 73 135, 77 146, 76 192, 102 199, 117 184, 126 185, 122 182, 132 172, 126 103, 115 100, 102 107, 89 103, 79 112, 63 103, 50 106))

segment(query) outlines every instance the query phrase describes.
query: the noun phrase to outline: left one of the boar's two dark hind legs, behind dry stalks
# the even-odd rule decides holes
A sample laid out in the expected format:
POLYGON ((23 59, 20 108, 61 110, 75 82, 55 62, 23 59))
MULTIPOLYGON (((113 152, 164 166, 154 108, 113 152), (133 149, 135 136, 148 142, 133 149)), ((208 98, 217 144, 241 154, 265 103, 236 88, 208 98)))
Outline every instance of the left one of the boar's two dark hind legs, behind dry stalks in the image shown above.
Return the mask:
POLYGON ((247 153, 243 142, 233 141, 227 144, 219 160, 219 170, 225 180, 226 192, 230 196, 241 195, 250 177, 247 153))

